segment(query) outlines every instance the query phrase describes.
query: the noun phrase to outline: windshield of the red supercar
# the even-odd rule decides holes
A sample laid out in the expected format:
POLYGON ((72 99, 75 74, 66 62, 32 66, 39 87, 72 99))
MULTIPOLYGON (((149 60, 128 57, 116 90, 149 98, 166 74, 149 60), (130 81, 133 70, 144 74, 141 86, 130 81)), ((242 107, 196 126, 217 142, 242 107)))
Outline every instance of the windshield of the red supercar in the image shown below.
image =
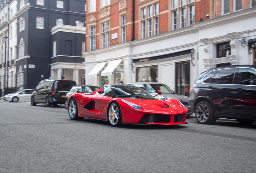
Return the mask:
POLYGON ((114 95, 120 98, 155 99, 144 89, 133 86, 114 87, 114 95))

